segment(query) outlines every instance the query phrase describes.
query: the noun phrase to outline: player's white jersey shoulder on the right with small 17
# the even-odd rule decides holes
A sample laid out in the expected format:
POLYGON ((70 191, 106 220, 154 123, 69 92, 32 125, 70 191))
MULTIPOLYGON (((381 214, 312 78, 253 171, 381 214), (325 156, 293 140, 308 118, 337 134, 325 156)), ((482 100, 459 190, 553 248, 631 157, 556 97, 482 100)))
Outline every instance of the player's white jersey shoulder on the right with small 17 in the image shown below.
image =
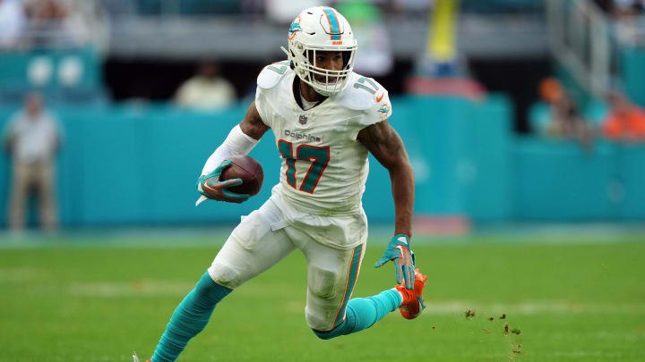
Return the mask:
POLYGON ((347 88, 340 94, 340 104, 355 111, 367 111, 388 98, 387 90, 372 78, 352 73, 347 88))

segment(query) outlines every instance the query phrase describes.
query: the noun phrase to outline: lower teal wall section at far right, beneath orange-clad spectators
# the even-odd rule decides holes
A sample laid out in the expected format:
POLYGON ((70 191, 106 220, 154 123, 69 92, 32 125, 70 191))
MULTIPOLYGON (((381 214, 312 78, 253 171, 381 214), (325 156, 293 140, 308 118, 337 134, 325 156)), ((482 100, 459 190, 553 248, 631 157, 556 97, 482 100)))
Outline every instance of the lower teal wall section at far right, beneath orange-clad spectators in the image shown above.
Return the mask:
POLYGON ((645 145, 520 138, 512 163, 515 220, 645 219, 645 145))

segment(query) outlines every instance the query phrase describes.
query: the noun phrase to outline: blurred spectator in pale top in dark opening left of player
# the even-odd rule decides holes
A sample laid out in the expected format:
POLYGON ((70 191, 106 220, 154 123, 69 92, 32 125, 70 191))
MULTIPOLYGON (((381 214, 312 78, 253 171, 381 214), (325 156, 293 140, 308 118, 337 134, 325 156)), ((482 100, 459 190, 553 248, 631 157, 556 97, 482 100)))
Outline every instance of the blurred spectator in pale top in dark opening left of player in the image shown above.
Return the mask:
POLYGON ((204 63, 193 78, 176 91, 177 105, 200 111, 217 111, 236 100, 235 88, 219 75, 219 64, 204 63))

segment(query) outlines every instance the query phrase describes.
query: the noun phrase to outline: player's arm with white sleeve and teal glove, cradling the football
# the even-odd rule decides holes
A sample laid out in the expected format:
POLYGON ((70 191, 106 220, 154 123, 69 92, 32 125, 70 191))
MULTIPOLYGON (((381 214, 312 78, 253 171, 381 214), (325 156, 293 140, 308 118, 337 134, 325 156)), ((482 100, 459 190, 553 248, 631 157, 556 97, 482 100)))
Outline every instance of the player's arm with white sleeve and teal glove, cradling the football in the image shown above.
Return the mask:
POLYGON ((202 194, 202 197, 197 200, 196 205, 206 198, 233 203, 241 203, 249 198, 246 194, 236 194, 228 190, 230 187, 242 184, 242 180, 219 181, 219 175, 230 166, 229 158, 248 154, 267 130, 269 126, 262 122, 255 102, 252 103, 246 111, 244 120, 233 127, 227 139, 206 160, 202 176, 197 180, 197 191, 202 194))

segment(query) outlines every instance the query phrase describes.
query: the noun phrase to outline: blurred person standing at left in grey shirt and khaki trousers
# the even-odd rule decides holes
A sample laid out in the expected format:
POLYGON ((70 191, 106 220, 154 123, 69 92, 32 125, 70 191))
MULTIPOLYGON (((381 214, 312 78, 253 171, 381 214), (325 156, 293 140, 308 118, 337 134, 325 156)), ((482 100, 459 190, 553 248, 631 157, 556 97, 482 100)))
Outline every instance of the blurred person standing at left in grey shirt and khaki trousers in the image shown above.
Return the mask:
POLYGON ((4 148, 13 163, 9 206, 9 226, 13 231, 24 227, 31 189, 38 191, 40 223, 48 232, 56 231, 54 161, 61 144, 60 126, 43 109, 42 97, 37 93, 28 95, 24 110, 14 114, 4 130, 4 148))

